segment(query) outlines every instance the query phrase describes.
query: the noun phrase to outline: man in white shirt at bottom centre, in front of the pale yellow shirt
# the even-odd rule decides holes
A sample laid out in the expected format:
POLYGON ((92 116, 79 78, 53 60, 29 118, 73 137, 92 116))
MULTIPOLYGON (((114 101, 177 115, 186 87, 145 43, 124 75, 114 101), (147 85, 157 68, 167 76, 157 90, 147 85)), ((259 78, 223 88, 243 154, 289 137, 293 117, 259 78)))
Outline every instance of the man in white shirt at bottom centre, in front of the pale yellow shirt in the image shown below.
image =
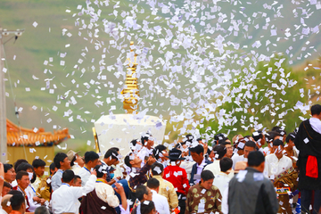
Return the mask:
POLYGON ((156 211, 160 214, 170 214, 169 202, 166 197, 159 194, 160 182, 156 178, 150 178, 147 181, 148 188, 152 191, 152 202, 155 203, 156 211))

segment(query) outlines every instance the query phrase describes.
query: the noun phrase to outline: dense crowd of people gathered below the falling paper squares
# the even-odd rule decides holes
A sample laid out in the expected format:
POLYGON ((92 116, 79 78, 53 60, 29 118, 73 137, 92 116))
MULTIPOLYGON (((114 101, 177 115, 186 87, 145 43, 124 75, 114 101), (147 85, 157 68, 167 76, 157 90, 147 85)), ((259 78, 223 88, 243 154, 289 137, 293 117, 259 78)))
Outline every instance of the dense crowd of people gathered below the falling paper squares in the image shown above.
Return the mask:
POLYGON ((58 152, 47 175, 41 159, 0 163, 0 213, 321 213, 320 119, 316 104, 289 134, 186 135, 170 148, 146 133, 124 157, 58 152))

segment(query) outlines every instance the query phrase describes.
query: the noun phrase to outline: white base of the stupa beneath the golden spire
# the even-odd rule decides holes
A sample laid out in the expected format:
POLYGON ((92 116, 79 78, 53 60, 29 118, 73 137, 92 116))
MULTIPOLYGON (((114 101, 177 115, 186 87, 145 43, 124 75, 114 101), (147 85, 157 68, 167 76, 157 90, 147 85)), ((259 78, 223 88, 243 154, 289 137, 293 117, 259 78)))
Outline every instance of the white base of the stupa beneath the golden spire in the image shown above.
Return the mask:
POLYGON ((144 133, 150 132, 155 144, 161 144, 165 134, 166 124, 158 117, 145 115, 138 118, 133 114, 103 115, 95 121, 95 131, 101 154, 111 147, 118 147, 125 156, 130 152, 129 143, 139 139, 144 133))

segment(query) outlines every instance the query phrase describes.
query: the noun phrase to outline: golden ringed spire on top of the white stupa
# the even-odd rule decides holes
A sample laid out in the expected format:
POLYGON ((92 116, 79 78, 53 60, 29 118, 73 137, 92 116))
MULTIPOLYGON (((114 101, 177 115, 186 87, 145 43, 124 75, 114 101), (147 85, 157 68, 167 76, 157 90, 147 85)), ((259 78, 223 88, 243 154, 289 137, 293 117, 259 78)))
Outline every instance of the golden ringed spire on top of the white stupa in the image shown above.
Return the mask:
MULTIPOLYGON (((134 52, 133 45, 134 42, 130 42, 130 52, 134 52)), ((134 62, 131 62, 130 58, 128 59, 128 71, 126 73, 125 86, 122 91, 125 98, 123 108, 126 113, 130 114, 138 110, 139 89, 136 77, 136 66, 138 65, 136 59, 136 53, 134 55, 134 62)))

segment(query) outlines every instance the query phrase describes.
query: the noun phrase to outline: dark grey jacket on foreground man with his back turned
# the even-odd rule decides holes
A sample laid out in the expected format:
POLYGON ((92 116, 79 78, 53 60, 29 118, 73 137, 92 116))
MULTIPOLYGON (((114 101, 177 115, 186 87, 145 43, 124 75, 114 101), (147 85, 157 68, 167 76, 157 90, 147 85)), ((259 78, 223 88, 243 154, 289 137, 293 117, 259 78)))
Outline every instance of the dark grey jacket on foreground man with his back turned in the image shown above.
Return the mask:
POLYGON ((279 209, 272 182, 250 167, 230 180, 227 200, 229 214, 275 214, 279 209))

